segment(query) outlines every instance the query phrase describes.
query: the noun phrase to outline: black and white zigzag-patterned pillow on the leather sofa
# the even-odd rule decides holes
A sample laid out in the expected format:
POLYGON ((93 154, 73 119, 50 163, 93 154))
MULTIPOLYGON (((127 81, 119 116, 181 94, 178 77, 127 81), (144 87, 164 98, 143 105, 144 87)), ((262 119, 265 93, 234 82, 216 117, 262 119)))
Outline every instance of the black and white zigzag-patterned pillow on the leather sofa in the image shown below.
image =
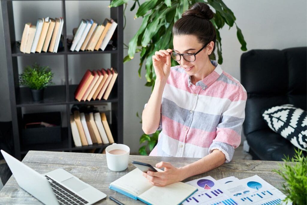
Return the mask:
POLYGON ((263 119, 274 131, 294 146, 307 151, 307 112, 292 104, 275 106, 262 113, 263 119))

